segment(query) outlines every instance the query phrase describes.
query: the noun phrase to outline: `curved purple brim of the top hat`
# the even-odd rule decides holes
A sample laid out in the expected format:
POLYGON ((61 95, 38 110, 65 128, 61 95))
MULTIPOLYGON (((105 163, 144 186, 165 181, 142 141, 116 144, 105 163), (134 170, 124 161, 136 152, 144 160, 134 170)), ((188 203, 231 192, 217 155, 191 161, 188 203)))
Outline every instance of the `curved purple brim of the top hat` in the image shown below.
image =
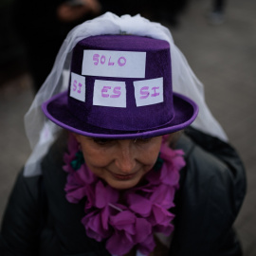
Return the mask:
POLYGON ((42 109, 48 119, 66 130, 86 137, 102 138, 146 138, 171 134, 189 126, 198 114, 197 105, 189 98, 174 93, 174 119, 169 123, 154 129, 143 131, 119 131, 109 130, 82 122, 74 117, 67 107, 67 92, 60 93, 42 105, 42 109))

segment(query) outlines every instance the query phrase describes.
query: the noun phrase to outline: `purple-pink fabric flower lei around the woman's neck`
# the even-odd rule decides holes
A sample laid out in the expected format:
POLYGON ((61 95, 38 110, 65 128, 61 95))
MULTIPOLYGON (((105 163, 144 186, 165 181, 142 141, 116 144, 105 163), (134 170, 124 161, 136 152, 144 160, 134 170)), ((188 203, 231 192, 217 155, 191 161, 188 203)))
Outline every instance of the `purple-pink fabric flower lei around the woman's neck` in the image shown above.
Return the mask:
POLYGON ((170 149, 166 138, 156 161, 158 168, 145 174, 143 185, 120 194, 88 169, 78 153, 78 142, 69 137, 68 153, 64 154, 66 199, 76 204, 87 198, 82 218, 86 234, 99 242, 104 240, 111 254, 123 255, 137 247, 147 255, 154 250, 155 232, 169 236, 174 230, 174 214, 169 210, 174 207, 179 170, 185 161, 183 151, 170 149))

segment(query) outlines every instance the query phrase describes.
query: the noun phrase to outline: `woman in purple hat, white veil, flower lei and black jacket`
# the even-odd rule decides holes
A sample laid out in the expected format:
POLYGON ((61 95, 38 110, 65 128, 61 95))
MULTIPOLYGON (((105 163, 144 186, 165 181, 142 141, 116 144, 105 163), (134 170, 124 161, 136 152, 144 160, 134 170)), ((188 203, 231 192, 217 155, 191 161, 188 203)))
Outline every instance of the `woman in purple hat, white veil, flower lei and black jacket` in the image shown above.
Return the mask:
POLYGON ((167 28, 75 27, 26 124, 1 255, 242 255, 243 164, 167 28))

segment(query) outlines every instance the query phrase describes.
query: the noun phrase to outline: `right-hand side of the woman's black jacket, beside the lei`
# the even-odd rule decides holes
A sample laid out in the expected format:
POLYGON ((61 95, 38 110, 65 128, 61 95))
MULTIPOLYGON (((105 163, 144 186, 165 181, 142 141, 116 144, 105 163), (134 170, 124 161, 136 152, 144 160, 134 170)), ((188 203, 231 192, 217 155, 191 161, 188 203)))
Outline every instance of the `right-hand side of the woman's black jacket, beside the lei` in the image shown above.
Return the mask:
POLYGON ((176 147, 184 150, 186 166, 174 199, 175 243, 191 255, 218 255, 235 241, 231 227, 246 194, 243 163, 229 143, 191 128, 176 147))

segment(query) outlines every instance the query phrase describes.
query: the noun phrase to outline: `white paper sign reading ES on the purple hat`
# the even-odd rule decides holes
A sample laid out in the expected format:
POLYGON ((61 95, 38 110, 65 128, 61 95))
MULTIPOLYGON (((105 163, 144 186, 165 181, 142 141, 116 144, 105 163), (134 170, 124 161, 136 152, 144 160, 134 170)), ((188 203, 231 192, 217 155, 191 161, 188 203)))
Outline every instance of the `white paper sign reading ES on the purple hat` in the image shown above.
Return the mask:
POLYGON ((125 82, 96 80, 94 83, 93 104, 126 107, 125 82))

